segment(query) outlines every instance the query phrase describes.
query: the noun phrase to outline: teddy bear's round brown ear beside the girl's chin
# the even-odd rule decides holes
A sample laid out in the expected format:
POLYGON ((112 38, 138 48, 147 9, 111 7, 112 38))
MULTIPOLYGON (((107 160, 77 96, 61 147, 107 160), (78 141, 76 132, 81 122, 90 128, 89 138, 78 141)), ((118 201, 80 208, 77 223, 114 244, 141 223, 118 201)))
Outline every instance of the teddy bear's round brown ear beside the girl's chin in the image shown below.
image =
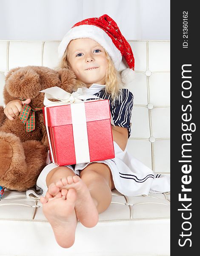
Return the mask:
POLYGON ((76 84, 76 76, 73 71, 68 68, 60 68, 57 70, 60 76, 61 86, 63 90, 72 91, 74 85, 76 84))

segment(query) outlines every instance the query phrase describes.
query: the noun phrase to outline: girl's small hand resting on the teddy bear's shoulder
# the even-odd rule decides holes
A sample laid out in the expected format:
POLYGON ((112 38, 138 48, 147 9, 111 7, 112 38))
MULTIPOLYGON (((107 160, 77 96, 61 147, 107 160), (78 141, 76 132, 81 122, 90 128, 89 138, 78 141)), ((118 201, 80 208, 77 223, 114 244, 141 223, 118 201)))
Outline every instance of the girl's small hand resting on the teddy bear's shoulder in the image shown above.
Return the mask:
POLYGON ((16 116, 19 116, 20 111, 24 103, 29 104, 31 99, 21 101, 20 99, 11 100, 4 108, 4 113, 9 120, 14 120, 16 116))

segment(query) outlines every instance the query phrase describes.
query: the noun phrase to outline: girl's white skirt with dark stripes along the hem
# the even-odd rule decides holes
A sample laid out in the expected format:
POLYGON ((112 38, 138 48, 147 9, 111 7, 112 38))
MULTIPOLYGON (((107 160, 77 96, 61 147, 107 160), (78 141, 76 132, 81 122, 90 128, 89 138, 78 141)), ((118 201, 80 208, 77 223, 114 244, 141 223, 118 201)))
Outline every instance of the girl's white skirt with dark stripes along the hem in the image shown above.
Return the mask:
MULTIPOLYGON (((132 157, 127 150, 122 151, 114 142, 115 158, 95 161, 97 163, 105 163, 109 166, 114 186, 117 191, 127 196, 148 195, 149 192, 163 193, 170 191, 170 178, 166 175, 154 175, 154 172, 145 166, 135 157, 132 157)), ((75 166, 67 166, 74 171, 76 175, 80 175, 80 170, 86 168, 89 163, 76 164, 75 166)), ((46 185, 46 176, 57 167, 54 163, 48 164, 37 179, 36 191, 29 189, 27 195, 31 193, 37 196, 45 196, 48 190, 46 185)))

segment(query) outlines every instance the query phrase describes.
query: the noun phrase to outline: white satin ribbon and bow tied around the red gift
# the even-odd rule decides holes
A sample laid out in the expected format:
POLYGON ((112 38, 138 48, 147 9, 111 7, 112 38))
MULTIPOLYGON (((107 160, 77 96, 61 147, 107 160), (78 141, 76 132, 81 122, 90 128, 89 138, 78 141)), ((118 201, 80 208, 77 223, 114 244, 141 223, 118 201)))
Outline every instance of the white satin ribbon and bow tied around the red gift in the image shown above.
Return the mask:
MULTIPOLYGON (((49 128, 47 123, 47 107, 60 106, 60 105, 68 105, 71 104, 71 115, 72 115, 72 128, 74 134, 74 148, 76 155, 76 163, 89 163, 89 145, 88 145, 88 136, 87 136, 87 128, 86 128, 86 112, 84 100, 86 99, 101 99, 95 95, 86 95, 84 94, 84 88, 78 88, 76 92, 68 93, 60 87, 54 86, 45 90, 41 90, 41 93, 45 93, 44 95, 44 112, 45 112, 45 122, 46 122, 46 131, 49 140, 49 149, 51 152, 51 158, 53 163, 55 163, 51 140, 49 136, 49 128), (49 99, 57 99, 57 102, 52 102, 49 99), (78 105, 74 105, 74 103, 79 103, 78 105), (81 143, 81 145, 80 145, 81 143)), ((93 100, 91 100, 93 101, 93 100)), ((114 125, 112 116, 111 116, 111 124, 114 125)))

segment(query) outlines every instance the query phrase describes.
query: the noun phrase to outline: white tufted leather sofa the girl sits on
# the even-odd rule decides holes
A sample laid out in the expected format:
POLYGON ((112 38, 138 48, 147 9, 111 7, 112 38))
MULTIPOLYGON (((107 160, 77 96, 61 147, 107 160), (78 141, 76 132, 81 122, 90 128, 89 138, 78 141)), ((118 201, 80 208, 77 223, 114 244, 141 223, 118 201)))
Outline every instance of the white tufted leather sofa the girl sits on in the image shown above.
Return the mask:
MULTIPOLYGON (((60 41, 0 41, 0 105, 5 73, 14 67, 57 65, 60 41)), ((129 41, 136 77, 128 150, 153 169, 169 175, 170 42, 129 41)), ((127 197, 113 190, 110 207, 94 228, 77 225, 69 249, 59 247, 42 205, 25 192, 5 191, 0 201, 0 255, 5 256, 169 256, 170 195, 127 197)))

